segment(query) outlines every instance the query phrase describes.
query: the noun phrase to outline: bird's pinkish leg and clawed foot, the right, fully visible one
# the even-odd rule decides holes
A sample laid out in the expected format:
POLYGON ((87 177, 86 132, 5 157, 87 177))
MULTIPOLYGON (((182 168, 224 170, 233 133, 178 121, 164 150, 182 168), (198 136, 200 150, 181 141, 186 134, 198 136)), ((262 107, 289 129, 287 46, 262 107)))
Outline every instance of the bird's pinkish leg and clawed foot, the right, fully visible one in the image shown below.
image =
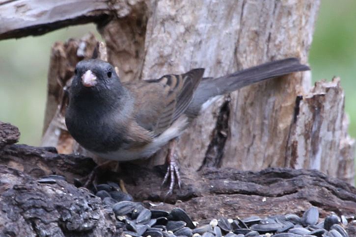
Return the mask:
POLYGON ((177 155, 175 154, 176 144, 177 144, 176 138, 169 141, 168 153, 165 158, 165 163, 167 164, 167 171, 164 175, 162 185, 168 180, 168 177, 170 177, 169 189, 168 192, 166 193, 166 196, 172 193, 176 177, 177 177, 178 187, 181 188, 181 176, 179 174, 177 155))

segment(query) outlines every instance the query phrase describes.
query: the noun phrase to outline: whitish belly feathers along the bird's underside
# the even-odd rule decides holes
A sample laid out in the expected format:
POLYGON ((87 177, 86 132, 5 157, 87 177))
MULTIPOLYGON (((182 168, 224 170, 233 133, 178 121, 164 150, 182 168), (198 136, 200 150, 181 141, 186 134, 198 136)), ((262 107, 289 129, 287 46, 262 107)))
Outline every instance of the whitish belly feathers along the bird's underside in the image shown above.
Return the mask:
POLYGON ((186 129, 187 125, 188 119, 186 116, 182 115, 179 119, 174 121, 174 123, 167 130, 165 130, 158 137, 155 137, 151 143, 145 146, 135 149, 120 149, 108 153, 93 153, 101 158, 112 159, 117 161, 129 161, 140 158, 148 158, 155 154, 168 141, 180 136, 186 129))

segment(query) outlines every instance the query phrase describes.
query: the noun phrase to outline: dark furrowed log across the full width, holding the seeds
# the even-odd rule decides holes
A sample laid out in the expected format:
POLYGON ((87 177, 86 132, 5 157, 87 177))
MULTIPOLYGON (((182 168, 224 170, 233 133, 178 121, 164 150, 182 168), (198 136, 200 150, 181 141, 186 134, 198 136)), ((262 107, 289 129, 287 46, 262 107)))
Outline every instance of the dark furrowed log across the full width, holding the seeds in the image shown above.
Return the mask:
MULTIPOLYGON (((74 178, 85 178, 90 173, 90 158, 11 142, 0 150, 0 157, 2 235, 115 235, 112 210, 105 208, 90 190, 73 185, 74 178), (63 175, 67 181, 41 181, 48 174, 63 175)), ((318 207, 321 218, 335 213, 352 220, 355 215, 356 188, 317 170, 203 168, 184 172, 182 189, 175 190, 168 199, 160 188, 162 171, 125 163, 120 173, 105 171, 98 175, 99 182, 122 179, 136 201, 158 205, 152 209, 170 211, 180 207, 200 223, 219 216, 301 215, 311 206, 318 207)), ((345 228, 350 236, 356 234, 356 222, 345 228)))

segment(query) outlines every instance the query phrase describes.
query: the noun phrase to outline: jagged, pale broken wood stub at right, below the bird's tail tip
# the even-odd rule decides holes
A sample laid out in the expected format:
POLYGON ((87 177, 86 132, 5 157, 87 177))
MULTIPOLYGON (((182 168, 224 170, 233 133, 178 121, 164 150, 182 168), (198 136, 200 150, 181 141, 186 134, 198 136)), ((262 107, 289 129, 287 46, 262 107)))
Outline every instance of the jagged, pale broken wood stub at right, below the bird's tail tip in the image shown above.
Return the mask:
POLYGON ((286 166, 318 169, 354 184, 354 156, 350 152, 354 154, 355 140, 347 134, 344 101, 339 78, 317 82, 310 93, 297 99, 286 166))

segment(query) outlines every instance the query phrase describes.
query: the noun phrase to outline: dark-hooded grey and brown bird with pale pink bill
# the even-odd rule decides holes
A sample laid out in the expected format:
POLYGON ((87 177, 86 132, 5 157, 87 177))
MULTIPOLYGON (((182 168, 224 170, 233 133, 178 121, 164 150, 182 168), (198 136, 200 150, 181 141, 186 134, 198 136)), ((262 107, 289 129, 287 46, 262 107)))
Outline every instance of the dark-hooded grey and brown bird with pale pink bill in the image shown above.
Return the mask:
MULTIPOLYGON (((177 138, 211 104, 211 99, 244 86, 310 70, 295 57, 267 62, 219 78, 203 78, 204 68, 159 79, 122 82, 107 61, 85 59, 76 65, 69 88, 65 124, 86 150, 105 159, 149 158, 177 138)), ((163 184, 181 178, 173 149, 168 149, 163 184)))

